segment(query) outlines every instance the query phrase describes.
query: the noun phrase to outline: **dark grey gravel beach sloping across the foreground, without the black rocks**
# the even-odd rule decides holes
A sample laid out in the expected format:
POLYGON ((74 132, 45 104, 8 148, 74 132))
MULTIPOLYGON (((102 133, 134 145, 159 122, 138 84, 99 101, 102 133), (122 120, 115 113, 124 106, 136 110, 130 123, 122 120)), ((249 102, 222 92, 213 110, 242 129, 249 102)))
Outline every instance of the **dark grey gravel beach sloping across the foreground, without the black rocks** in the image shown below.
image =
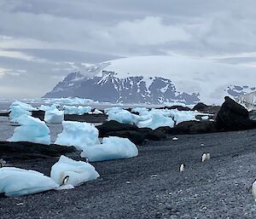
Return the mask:
MULTIPOLYGON (((145 142, 137 158, 93 163, 101 177, 73 190, 1 197, 0 217, 256 218, 247 192, 256 177, 256 130, 172 137, 145 142), (205 163, 203 153, 211 153, 205 163)), ((57 159, 13 165, 49 176, 57 159)))

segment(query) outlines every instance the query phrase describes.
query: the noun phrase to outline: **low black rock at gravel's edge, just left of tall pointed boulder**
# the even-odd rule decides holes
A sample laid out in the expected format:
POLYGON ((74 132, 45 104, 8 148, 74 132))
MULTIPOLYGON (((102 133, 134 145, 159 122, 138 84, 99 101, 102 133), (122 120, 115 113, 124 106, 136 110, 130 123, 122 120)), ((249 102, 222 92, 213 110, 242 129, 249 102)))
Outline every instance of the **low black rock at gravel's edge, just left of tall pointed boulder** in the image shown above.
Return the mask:
POLYGON ((185 121, 168 130, 172 135, 204 134, 217 132, 216 123, 211 121, 185 121))

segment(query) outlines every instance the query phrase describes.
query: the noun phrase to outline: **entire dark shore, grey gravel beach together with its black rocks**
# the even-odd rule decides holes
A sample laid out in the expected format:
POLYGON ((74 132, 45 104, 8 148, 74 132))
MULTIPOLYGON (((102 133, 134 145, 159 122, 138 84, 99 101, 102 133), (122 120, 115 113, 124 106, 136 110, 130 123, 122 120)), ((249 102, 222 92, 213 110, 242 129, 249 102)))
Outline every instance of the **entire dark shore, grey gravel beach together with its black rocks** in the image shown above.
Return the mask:
MULTIPOLYGON (((73 190, 15 199, 2 195, 1 218, 256 218, 247 192, 256 176, 254 112, 230 98, 221 107, 201 104, 197 110, 211 112, 214 119, 151 130, 106 122, 105 114, 71 115, 71 120, 103 123, 97 126, 102 137, 128 137, 139 155, 92 163, 100 178, 73 190), (205 163, 203 153, 211 154, 205 163), (183 173, 180 164, 186 164, 183 173)), ((44 112, 37 113, 33 116, 40 118, 44 112)), ((81 159, 74 147, 0 142, 7 165, 47 176, 61 154, 81 159)))

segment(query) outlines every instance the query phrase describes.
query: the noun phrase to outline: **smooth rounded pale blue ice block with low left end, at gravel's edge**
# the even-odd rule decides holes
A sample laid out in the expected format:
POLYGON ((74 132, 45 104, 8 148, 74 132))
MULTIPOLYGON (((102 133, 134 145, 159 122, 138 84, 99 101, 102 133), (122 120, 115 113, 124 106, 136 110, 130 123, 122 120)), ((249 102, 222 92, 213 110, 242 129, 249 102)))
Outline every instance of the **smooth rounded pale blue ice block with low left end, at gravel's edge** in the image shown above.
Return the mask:
POLYGON ((138 150, 127 138, 115 136, 105 137, 102 139, 102 144, 84 148, 81 153, 82 158, 89 158, 90 161, 102 161, 119 158, 136 157, 138 150))

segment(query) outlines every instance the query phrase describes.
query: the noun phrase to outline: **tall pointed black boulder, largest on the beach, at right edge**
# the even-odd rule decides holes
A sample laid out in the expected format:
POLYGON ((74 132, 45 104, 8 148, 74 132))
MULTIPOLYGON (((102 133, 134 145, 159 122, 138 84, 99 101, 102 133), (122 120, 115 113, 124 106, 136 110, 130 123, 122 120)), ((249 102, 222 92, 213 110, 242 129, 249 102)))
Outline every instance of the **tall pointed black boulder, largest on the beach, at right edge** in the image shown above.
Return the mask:
POLYGON ((218 130, 249 130, 256 128, 256 122, 250 120, 249 112, 236 101, 226 96, 221 106, 216 124, 218 130))

